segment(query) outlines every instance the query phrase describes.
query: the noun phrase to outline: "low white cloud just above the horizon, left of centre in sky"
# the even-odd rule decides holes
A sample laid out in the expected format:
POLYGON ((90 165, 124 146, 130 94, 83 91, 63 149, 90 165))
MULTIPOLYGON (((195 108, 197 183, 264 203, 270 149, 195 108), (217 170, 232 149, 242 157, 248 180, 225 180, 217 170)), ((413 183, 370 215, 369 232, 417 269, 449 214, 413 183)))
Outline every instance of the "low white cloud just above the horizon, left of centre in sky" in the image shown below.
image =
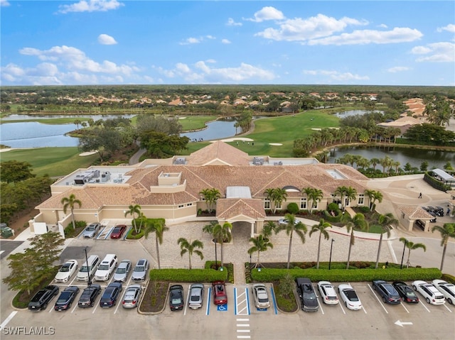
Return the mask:
POLYGON ((159 68, 159 72, 166 77, 182 77, 186 82, 207 84, 237 83, 250 81, 250 79, 251 81, 256 79, 272 80, 275 78, 272 72, 244 62, 238 67, 224 68, 211 67, 208 62, 213 63, 214 60, 198 61, 193 68, 179 62, 173 70, 159 68))

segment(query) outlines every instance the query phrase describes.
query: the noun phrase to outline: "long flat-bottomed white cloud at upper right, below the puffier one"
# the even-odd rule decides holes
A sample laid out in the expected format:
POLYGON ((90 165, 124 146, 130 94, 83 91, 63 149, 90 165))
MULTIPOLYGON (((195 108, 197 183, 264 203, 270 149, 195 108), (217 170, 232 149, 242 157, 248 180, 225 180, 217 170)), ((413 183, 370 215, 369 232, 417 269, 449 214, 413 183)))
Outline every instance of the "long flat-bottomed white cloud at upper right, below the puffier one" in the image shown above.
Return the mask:
POLYGON ((395 27, 392 31, 356 30, 327 38, 310 40, 309 45, 365 45, 370 43, 409 43, 422 38, 420 31, 412 28, 395 27))

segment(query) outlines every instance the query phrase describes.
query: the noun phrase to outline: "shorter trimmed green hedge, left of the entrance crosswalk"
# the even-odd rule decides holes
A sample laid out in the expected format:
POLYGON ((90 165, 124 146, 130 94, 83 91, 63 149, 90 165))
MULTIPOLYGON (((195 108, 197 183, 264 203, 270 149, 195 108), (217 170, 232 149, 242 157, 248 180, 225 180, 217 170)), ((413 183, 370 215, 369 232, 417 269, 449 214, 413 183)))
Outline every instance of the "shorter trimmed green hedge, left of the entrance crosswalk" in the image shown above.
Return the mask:
POLYGON ((213 269, 152 269, 150 280, 187 282, 187 283, 209 283, 213 281, 226 281, 228 270, 213 269))

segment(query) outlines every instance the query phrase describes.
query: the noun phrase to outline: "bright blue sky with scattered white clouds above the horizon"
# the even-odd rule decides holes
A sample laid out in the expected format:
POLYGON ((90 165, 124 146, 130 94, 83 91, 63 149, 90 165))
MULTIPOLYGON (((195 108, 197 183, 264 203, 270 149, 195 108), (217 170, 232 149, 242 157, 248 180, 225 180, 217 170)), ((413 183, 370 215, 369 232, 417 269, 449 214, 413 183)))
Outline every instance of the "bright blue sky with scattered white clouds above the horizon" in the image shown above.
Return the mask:
POLYGON ((455 86, 455 1, 0 4, 3 86, 455 86))

